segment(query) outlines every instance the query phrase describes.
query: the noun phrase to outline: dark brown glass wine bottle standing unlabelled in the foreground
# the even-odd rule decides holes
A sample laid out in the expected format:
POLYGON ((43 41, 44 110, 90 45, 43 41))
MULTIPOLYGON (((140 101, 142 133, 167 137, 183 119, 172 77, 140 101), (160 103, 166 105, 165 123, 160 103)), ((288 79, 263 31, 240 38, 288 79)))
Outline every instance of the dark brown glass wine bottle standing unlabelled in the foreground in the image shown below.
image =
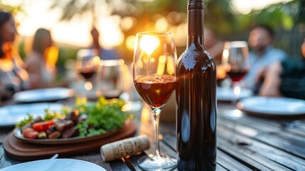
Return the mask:
POLYGON ((188 44, 176 76, 178 170, 216 169, 216 67, 203 45, 203 1, 188 0, 188 44))

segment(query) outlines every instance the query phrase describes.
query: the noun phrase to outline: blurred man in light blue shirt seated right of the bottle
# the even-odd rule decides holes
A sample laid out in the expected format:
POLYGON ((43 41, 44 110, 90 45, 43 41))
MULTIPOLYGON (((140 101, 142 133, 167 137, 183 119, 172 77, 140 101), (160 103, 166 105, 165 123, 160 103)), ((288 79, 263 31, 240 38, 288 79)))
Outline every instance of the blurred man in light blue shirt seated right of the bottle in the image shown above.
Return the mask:
POLYGON ((260 87, 266 68, 277 61, 282 61, 287 54, 272 46, 274 32, 272 28, 264 24, 258 24, 251 28, 249 35, 249 46, 252 49, 249 53, 250 71, 243 79, 248 88, 255 92, 260 87))

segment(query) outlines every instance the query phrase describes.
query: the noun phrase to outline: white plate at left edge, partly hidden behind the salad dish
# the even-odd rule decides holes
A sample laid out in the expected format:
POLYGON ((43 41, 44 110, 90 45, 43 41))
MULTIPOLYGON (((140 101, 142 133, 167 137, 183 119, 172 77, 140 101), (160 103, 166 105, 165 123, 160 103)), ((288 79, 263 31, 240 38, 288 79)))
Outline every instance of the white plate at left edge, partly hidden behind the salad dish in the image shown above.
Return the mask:
POLYGON ((58 103, 31 103, 21 105, 6 105, 0 108, 0 127, 12 127, 26 118, 30 113, 37 118, 45 115, 45 110, 60 111, 63 105, 58 103))

